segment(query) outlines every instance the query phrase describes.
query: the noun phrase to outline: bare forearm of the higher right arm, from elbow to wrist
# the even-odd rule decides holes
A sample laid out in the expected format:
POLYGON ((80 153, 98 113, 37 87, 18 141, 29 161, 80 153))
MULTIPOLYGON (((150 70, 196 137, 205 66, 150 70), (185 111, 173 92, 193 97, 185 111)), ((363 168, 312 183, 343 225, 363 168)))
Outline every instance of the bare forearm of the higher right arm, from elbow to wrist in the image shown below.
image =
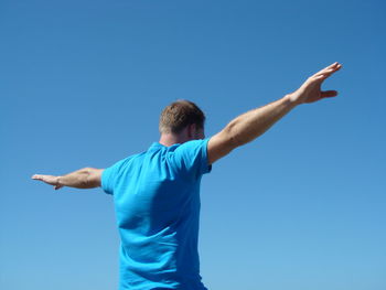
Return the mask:
POLYGON ((264 107, 238 116, 224 130, 232 138, 234 147, 243 146, 261 136, 296 106, 297 104, 287 95, 264 107))

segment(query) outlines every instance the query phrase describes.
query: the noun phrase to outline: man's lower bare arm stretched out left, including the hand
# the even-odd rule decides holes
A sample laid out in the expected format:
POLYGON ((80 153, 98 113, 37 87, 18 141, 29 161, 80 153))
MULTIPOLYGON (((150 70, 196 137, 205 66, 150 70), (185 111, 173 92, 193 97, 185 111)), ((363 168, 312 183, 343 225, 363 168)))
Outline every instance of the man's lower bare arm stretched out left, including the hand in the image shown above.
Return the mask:
POLYGON ((63 186, 94 189, 100 186, 103 171, 103 169, 84 168, 63 176, 35 174, 32 179, 53 185, 55 190, 62 189, 63 186))

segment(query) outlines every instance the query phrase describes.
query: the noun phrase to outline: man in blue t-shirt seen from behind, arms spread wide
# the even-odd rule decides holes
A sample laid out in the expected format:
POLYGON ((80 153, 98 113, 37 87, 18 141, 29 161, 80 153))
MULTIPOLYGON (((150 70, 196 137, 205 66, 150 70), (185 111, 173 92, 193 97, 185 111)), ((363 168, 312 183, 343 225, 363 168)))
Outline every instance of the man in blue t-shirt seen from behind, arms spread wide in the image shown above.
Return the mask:
POLYGON ((312 75, 296 92, 232 120, 204 139, 205 117, 193 103, 180 100, 161 114, 159 142, 105 170, 86 168, 64 176, 33 175, 54 185, 112 194, 121 238, 119 289, 206 289, 197 253, 200 181, 212 164, 253 141, 300 104, 334 97, 321 90, 341 68, 334 63, 312 75))

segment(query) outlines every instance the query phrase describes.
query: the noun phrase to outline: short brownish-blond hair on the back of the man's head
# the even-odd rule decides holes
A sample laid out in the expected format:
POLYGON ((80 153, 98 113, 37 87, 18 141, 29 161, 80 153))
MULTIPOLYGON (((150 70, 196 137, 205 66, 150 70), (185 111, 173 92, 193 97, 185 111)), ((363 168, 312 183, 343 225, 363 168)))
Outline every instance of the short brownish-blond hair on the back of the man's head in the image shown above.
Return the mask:
POLYGON ((180 133, 186 126, 195 123, 204 129, 205 115, 193 101, 179 99, 167 106, 160 116, 161 133, 180 133))

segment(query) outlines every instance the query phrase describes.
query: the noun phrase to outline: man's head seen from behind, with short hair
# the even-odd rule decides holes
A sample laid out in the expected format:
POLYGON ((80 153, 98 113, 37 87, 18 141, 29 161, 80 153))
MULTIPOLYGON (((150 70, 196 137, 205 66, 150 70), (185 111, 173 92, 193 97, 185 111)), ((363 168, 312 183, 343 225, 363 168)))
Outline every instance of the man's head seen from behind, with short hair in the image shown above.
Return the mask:
POLYGON ((203 139, 204 112, 192 101, 176 100, 167 106, 160 117, 160 132, 162 136, 172 136, 176 142, 203 139))

